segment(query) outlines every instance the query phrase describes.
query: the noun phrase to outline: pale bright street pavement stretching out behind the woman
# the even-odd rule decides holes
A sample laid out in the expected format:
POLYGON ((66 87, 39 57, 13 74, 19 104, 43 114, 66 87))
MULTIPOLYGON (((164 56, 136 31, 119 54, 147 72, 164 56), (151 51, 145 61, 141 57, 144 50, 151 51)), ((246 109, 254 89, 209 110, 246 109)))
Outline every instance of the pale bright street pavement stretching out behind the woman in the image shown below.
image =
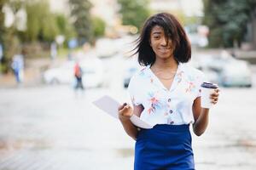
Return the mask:
MULTIPOLYGON (((125 60, 104 63, 108 87, 84 93, 71 85, 0 89, 0 170, 133 169, 134 141, 91 103, 104 94, 129 102, 125 60)), ((255 169, 255 94, 255 85, 221 88, 207 132, 193 135, 197 170, 255 169)))

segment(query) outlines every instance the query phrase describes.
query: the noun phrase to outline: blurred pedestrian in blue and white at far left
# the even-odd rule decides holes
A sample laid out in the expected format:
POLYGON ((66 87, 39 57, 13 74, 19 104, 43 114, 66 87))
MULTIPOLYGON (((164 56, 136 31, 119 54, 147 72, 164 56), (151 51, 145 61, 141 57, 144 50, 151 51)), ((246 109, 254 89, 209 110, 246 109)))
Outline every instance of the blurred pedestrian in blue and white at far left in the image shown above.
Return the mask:
POLYGON ((16 82, 20 84, 24 78, 24 59, 22 54, 14 55, 11 67, 15 73, 16 82))

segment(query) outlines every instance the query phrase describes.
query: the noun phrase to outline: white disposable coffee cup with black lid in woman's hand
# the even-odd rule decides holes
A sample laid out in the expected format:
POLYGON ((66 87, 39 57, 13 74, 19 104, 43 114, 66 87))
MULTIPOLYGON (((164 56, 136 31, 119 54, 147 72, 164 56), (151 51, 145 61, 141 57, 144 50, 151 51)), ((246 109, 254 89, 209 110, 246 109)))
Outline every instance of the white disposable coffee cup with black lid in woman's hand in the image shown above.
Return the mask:
POLYGON ((211 108, 212 102, 210 95, 214 92, 214 89, 218 88, 217 84, 211 82, 203 82, 201 84, 201 107, 202 108, 211 108))

